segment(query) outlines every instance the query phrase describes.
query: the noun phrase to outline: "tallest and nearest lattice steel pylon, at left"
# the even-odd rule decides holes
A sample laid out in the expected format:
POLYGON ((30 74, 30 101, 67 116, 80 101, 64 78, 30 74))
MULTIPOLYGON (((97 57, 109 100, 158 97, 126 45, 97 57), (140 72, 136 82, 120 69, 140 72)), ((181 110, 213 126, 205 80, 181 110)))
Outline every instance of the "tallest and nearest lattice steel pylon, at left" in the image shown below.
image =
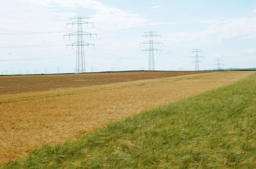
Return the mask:
POLYGON ((71 18, 71 19, 77 19, 77 21, 75 22, 71 22, 67 24, 67 28, 68 25, 77 25, 77 31, 73 32, 73 33, 69 33, 69 34, 65 34, 64 36, 77 36, 77 42, 75 43, 71 43, 68 46, 77 46, 77 57, 76 57, 76 73, 85 73, 85 52, 84 52, 84 46, 88 46, 89 49, 89 45, 93 45, 91 43, 87 43, 84 42, 84 37, 83 35, 90 35, 90 38, 92 38, 92 35, 96 35, 97 38, 97 34, 96 33, 90 33, 90 32, 83 32, 83 26, 82 24, 87 24, 87 28, 88 28, 88 24, 93 24, 92 22, 87 22, 87 21, 82 21, 82 19, 88 19, 86 17, 77 17, 77 18, 71 18))

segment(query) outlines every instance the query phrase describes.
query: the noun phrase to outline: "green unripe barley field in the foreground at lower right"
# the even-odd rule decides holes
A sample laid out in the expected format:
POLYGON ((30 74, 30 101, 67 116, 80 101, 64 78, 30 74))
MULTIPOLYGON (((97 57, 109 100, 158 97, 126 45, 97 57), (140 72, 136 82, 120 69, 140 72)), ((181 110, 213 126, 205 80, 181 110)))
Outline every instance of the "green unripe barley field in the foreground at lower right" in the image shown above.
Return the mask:
POLYGON ((3 168, 256 168, 256 74, 143 111, 3 168))

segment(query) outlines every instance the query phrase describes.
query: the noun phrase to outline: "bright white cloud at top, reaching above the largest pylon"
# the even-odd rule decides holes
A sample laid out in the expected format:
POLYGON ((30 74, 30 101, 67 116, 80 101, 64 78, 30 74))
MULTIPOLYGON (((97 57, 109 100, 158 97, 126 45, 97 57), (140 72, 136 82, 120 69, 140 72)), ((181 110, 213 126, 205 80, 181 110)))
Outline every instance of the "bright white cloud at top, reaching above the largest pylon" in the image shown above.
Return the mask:
MULTIPOLYGON (((62 6, 64 8, 75 9, 83 8, 88 10, 95 10, 96 13, 90 17, 95 25, 101 25, 104 29, 122 29, 140 26, 141 24, 148 23, 148 20, 144 17, 140 17, 138 14, 134 14, 130 11, 124 11, 118 8, 112 8, 96 0, 27 0, 30 3, 41 4, 44 6, 62 6)), ((62 13, 64 16, 68 13, 62 13)), ((70 13, 72 16, 74 13, 70 13)), ((67 18, 69 17, 66 15, 67 18)))

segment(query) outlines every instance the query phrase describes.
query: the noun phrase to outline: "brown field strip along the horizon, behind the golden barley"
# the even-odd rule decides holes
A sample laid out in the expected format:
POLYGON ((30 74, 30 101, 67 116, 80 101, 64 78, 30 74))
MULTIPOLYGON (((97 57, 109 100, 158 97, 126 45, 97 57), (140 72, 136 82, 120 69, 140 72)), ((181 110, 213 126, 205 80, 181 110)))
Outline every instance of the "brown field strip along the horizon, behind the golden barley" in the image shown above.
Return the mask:
POLYGON ((125 71, 57 75, 0 76, 0 94, 104 85, 144 79, 208 73, 206 71, 125 71))

